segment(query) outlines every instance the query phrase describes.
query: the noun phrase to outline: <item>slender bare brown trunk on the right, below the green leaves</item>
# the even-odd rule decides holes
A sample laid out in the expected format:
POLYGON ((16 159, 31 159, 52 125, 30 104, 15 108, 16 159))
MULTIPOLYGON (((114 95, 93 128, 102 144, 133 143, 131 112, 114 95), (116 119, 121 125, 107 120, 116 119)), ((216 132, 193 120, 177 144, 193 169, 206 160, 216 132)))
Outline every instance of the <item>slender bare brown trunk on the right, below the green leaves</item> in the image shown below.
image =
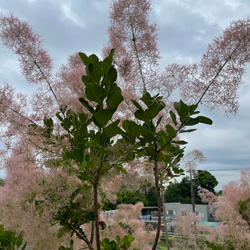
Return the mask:
POLYGON ((155 147, 155 166, 154 166, 154 176, 155 176, 155 187, 157 191, 157 202, 158 202, 158 224, 156 229, 156 236, 154 245, 152 247, 152 250, 155 250, 160 238, 160 231, 161 231, 161 190, 160 190, 160 184, 158 179, 158 152, 157 147, 155 147))

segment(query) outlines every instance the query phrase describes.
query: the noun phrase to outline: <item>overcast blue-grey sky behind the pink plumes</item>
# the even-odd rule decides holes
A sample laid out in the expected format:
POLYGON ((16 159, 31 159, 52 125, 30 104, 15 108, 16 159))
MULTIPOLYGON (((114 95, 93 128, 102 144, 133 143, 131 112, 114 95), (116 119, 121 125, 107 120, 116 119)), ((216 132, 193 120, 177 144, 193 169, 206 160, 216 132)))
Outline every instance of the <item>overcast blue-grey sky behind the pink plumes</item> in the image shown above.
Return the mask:
MULTIPOLYGON (((83 51, 99 54, 108 40, 108 0, 0 0, 0 12, 13 12, 29 21, 42 35, 54 59, 55 72, 69 55, 83 51)), ((153 0, 150 20, 159 28, 161 65, 198 62, 206 45, 231 21, 250 15, 249 0, 153 0)), ((250 67, 248 67, 250 69, 250 67)), ((28 92, 20 77, 15 56, 0 48, 0 82, 9 82, 28 92)), ((217 178, 216 190, 240 178, 250 168, 250 71, 239 94, 237 116, 225 117, 220 110, 202 108, 213 120, 188 137, 188 150, 199 149, 207 161, 198 169, 217 178)))

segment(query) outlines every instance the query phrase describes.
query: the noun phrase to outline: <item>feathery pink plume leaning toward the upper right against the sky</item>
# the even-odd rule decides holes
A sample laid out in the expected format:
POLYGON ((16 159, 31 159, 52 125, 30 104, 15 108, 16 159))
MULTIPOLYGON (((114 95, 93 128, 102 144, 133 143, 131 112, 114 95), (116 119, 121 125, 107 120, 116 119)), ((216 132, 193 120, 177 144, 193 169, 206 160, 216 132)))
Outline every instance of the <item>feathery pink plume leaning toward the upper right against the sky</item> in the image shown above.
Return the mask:
POLYGON ((238 91, 250 58, 249 23, 250 19, 232 22, 208 45, 199 64, 167 67, 168 82, 180 86, 184 100, 237 113, 238 91))

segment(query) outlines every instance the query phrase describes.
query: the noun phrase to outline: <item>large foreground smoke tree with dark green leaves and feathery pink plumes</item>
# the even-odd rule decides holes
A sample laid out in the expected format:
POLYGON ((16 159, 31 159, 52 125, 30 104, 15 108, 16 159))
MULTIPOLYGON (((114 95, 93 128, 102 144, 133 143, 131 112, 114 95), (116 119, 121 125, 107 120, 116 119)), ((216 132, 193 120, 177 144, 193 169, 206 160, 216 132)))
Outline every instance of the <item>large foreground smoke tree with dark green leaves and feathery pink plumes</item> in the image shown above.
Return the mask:
POLYGON ((249 19, 233 22, 208 45, 199 64, 172 64, 162 71, 156 25, 148 23, 150 6, 149 0, 112 1, 104 59, 74 54, 56 77, 31 26, 13 14, 0 18, 3 45, 18 56, 27 82, 38 85, 26 97, 1 84, 6 169, 1 222, 6 229, 24 232, 24 241, 35 249, 101 249, 100 242, 109 244, 99 227, 103 198, 119 189, 134 160, 144 159, 141 165, 151 168, 147 173, 154 179, 160 214, 162 181, 182 171, 178 164, 186 142, 179 134, 194 131, 188 127, 198 123, 212 123, 198 115, 201 101, 237 112, 237 93, 249 62, 249 19), (187 103, 169 100, 176 88, 187 103))

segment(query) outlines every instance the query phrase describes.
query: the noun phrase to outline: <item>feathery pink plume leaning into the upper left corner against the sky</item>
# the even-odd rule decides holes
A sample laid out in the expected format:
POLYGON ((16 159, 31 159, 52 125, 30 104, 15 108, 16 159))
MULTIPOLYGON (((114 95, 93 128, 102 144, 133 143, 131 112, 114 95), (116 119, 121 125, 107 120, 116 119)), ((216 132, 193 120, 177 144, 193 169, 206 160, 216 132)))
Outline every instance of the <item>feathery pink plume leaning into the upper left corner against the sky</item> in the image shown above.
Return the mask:
POLYGON ((22 74, 29 83, 48 81, 52 60, 44 50, 42 40, 31 26, 13 14, 0 17, 0 38, 6 48, 18 55, 22 74))

